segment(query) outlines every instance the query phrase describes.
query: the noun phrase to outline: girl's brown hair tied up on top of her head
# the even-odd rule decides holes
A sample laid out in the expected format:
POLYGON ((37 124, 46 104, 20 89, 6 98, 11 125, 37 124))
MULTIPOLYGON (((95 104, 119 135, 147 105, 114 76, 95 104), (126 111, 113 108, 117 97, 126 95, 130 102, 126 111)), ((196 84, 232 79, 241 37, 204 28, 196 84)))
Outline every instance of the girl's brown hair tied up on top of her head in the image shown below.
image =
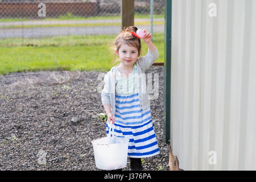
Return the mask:
POLYGON ((115 42, 114 42, 115 50, 119 51, 119 48, 121 47, 121 45, 126 44, 128 46, 137 47, 139 52, 138 56, 139 56, 141 52, 141 39, 131 34, 132 31, 136 33, 137 30, 138 28, 134 26, 123 28, 121 33, 115 39, 115 42))

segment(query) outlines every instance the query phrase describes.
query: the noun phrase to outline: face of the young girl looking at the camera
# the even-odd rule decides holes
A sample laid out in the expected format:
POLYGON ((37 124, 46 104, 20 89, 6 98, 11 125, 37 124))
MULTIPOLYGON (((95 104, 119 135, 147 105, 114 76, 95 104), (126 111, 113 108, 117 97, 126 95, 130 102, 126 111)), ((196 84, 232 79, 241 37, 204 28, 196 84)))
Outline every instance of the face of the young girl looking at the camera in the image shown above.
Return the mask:
POLYGON ((125 66, 133 65, 138 58, 139 51, 137 47, 131 47, 126 44, 122 44, 119 51, 115 51, 119 56, 121 64, 125 66))

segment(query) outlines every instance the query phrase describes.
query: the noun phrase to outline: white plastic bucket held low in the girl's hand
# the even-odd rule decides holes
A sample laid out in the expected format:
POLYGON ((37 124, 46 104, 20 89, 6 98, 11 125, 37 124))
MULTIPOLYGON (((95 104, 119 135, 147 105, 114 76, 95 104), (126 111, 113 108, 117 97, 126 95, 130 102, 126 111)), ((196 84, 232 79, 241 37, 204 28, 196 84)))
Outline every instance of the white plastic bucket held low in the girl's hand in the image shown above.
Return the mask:
POLYGON ((109 136, 92 140, 96 167, 105 170, 126 167, 129 139, 109 136))

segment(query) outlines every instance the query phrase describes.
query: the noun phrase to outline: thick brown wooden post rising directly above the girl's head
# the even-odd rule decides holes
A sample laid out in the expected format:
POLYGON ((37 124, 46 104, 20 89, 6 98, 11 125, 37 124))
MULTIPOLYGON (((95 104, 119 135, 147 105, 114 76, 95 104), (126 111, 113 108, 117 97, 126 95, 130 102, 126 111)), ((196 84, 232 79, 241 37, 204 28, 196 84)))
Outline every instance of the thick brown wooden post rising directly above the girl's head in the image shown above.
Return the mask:
POLYGON ((122 0, 121 19, 122 29, 134 26, 134 0, 122 0))

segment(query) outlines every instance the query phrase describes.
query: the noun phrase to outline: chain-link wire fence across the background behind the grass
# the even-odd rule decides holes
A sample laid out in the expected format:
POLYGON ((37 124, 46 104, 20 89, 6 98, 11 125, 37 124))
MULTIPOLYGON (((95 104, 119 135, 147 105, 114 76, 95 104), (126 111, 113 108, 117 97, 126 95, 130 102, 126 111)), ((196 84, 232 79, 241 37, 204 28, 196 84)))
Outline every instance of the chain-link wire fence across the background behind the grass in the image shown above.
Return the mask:
MULTIPOLYGON (((135 26, 164 32, 164 0, 135 0, 134 11, 135 26)), ((59 37, 67 39, 55 39, 55 45, 82 44, 79 36, 97 36, 100 41, 120 30, 121 0, 0 0, 0 46, 52 44, 59 37), (70 42, 68 37, 77 40, 70 42)))

